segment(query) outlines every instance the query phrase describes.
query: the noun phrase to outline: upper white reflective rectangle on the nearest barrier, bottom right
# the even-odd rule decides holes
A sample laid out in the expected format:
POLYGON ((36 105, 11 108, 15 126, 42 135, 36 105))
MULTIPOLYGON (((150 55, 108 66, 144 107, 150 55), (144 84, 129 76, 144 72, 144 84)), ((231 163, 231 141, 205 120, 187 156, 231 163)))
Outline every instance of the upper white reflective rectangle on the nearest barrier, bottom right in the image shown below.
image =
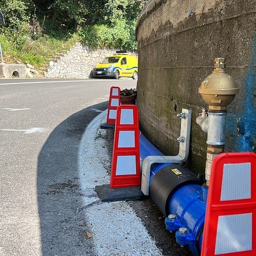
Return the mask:
POLYGON ((251 198, 251 163, 224 164, 221 201, 251 198))

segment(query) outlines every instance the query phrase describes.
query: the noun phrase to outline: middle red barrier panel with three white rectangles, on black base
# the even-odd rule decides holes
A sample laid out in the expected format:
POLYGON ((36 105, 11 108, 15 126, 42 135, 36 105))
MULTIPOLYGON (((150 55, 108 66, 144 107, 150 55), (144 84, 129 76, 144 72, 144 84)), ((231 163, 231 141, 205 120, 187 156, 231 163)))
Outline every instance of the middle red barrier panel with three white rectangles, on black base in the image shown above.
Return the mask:
POLYGON ((117 108, 111 188, 140 186, 139 114, 135 105, 117 108))

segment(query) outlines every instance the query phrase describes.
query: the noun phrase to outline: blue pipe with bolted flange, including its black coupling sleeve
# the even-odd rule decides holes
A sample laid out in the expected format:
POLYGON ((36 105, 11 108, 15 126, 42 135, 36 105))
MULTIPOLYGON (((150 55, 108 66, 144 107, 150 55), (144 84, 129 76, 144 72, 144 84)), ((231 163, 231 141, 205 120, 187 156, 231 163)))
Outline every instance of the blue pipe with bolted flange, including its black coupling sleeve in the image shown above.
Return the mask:
MULTIPOLYGON (((140 136, 140 160, 162 155, 144 136, 140 136)), ((202 248, 208 189, 201 186, 203 175, 196 175, 179 164, 153 164, 150 174, 151 198, 166 216, 165 226, 176 231, 177 243, 189 246, 196 255, 202 248), (180 231, 179 231, 180 230, 180 231)))

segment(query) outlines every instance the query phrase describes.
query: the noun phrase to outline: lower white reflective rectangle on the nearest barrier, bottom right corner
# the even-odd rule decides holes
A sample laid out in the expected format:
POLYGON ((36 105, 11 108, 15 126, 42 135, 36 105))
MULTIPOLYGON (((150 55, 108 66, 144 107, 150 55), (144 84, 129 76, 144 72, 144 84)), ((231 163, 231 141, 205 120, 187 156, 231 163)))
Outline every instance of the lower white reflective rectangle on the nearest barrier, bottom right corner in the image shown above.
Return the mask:
POLYGON ((252 250, 252 213, 219 216, 215 255, 252 250))

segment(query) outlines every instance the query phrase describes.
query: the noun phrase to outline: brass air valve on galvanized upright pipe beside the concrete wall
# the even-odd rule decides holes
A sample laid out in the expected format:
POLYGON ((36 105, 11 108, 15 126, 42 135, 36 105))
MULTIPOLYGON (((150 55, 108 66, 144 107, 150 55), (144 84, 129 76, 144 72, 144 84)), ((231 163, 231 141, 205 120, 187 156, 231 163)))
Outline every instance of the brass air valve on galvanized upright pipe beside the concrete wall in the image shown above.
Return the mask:
POLYGON ((234 79, 225 72, 225 59, 215 59, 215 69, 201 84, 198 92, 209 105, 208 116, 202 113, 196 119, 207 132, 207 155, 205 166, 206 184, 209 185, 212 161, 222 152, 225 145, 227 105, 231 103, 239 89, 234 79))

